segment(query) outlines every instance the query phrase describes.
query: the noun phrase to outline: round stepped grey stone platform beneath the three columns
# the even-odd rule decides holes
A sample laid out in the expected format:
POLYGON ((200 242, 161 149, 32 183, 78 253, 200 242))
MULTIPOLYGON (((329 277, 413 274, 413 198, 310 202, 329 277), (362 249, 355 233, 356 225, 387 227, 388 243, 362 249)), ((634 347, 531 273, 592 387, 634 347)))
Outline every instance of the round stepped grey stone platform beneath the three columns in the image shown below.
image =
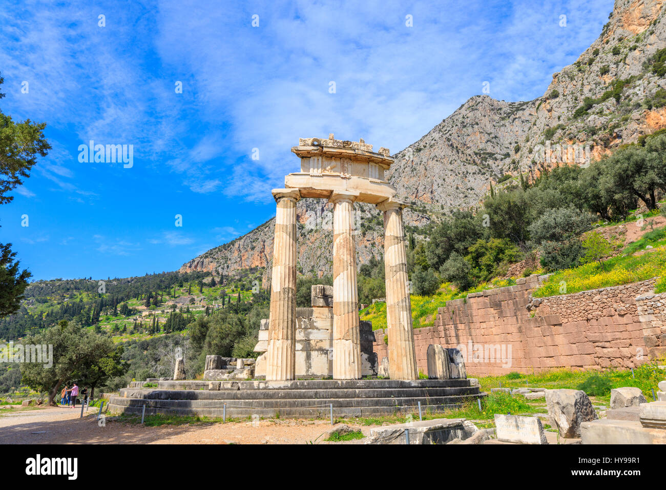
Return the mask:
POLYGON ((222 417, 366 417, 422 410, 442 412, 486 393, 468 379, 160 381, 157 388, 123 388, 109 400, 111 413, 222 417))

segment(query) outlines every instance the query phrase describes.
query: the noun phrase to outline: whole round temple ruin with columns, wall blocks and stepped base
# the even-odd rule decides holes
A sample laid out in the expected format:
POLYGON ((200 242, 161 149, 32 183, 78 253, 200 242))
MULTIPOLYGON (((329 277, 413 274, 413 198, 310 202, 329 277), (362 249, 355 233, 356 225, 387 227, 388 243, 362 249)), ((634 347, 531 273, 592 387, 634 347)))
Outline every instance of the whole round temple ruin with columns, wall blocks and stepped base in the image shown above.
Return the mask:
POLYGON ((384 177, 394 161, 388 149, 374 152, 363 140, 338 141, 329 135, 301 139, 292 151, 300 157, 300 172, 287 175, 284 189, 273 191, 277 215, 270 315, 262 321, 254 348, 262 354, 255 362, 209 353, 203 379, 180 379, 185 371, 179 363, 174 379, 154 380, 157 387, 140 381, 121 389, 109 400, 109 411, 367 417, 417 407, 444 411, 485 395, 467 379, 458 349, 430 349, 430 379, 419 379, 402 231, 405 205, 384 177), (333 203, 334 279, 332 287, 312 287, 311 307, 296 308, 296 202, 305 197, 333 203), (384 211, 388 346, 382 344, 387 356, 380 362, 372 325, 358 317, 356 202, 384 211))

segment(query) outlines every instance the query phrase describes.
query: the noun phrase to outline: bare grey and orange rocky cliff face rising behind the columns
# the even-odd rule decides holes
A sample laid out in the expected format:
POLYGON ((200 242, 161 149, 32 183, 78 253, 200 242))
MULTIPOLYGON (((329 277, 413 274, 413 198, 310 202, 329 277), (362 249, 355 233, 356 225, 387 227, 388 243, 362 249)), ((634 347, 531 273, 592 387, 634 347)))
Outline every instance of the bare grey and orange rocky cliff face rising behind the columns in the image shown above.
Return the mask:
MULTIPOLYGON (((474 207, 501 176, 539 172, 557 163, 585 164, 643 134, 666 127, 666 79, 653 73, 653 55, 666 47, 666 0, 616 0, 599 38, 553 74, 542 97, 527 102, 469 99, 427 135, 398 152, 388 180, 412 203, 417 229, 451 209, 474 207), (586 99, 589 98, 589 99, 586 99), (582 108, 582 109, 581 109, 582 108), (584 110, 583 110, 584 109, 584 110)), ((508 179, 507 182, 511 182, 508 179)), ((330 274, 330 205, 298 203, 300 273, 330 274)), ((379 211, 358 210, 357 260, 383 253, 379 211)), ((231 273, 270 265, 273 220, 192 259, 180 271, 231 273)), ((270 270, 270 268, 268 268, 270 270)))

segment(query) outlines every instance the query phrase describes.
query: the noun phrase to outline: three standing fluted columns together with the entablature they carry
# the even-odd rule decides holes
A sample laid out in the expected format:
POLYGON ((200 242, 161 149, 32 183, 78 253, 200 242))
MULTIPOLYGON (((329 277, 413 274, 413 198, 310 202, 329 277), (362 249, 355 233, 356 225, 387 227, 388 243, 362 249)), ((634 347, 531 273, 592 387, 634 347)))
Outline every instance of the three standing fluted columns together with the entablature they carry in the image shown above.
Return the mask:
POLYGON ((362 202, 384 211, 390 377, 418 379, 402 229, 406 204, 394 197, 396 189, 384 176, 394 159, 386 148, 374 152, 362 139, 340 141, 332 134, 328 139, 301 138, 292 152, 300 158, 300 172, 286 175, 284 189, 272 191, 277 211, 266 380, 296 379, 296 202, 306 197, 333 204, 332 377, 363 375, 353 219, 354 203, 362 202))

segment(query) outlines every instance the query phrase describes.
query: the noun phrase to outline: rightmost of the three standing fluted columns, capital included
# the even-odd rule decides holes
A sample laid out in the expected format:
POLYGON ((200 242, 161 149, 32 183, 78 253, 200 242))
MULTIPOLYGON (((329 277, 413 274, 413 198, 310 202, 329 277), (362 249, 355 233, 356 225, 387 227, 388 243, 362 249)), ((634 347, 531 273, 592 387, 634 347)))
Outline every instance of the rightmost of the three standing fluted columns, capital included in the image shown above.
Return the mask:
POLYGON ((377 207, 384 211, 384 268, 386 271, 386 326, 388 372, 391 379, 418 379, 412 301, 407 276, 402 208, 406 205, 387 199, 377 207))

